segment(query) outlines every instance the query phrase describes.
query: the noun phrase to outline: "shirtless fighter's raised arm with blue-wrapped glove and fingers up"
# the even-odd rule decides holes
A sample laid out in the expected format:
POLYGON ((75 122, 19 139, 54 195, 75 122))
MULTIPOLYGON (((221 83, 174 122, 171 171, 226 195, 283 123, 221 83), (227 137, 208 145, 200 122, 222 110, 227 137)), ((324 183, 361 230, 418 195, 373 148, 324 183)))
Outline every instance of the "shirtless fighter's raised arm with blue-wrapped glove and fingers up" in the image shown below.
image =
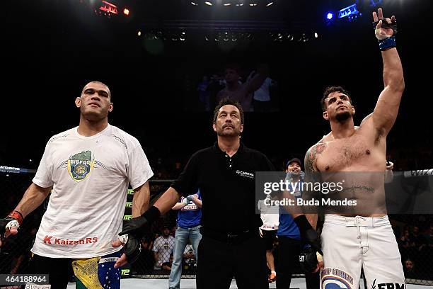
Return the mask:
POLYGON ((405 89, 403 67, 396 49, 396 16, 383 18, 382 9, 373 12, 376 24, 375 34, 379 40, 383 60, 383 91, 372 115, 374 127, 380 135, 386 136, 397 118, 401 96, 405 89))

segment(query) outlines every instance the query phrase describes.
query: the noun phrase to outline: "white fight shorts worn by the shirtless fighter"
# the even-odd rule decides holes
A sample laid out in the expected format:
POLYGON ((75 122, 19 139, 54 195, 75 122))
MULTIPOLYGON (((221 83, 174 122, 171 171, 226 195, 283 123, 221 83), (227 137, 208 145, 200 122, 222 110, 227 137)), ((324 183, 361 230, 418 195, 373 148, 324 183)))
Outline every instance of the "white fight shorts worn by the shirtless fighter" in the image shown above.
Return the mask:
POLYGON ((358 289, 361 268, 368 289, 405 289, 400 252, 388 216, 325 215, 321 242, 321 289, 358 289))

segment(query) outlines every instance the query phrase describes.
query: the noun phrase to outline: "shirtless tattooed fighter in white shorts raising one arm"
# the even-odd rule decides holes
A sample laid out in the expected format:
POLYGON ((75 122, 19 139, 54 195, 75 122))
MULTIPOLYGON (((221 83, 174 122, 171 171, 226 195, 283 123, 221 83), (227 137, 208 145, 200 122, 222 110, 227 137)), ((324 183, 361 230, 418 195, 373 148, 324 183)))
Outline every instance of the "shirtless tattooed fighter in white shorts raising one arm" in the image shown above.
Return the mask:
MULTIPOLYGON (((376 108, 355 129, 354 107, 347 91, 339 86, 326 89, 322 98, 323 118, 330 122, 332 137, 324 137, 308 149, 307 172, 347 174, 386 169, 386 135, 396 120, 405 84, 396 50, 396 18, 383 18, 381 8, 373 13, 373 18, 383 59, 384 83, 376 108)), ((355 215, 350 212, 325 215, 321 288, 358 288, 361 268, 369 288, 405 288, 400 253, 386 215, 383 179, 364 186, 350 183, 345 186, 356 188, 350 198, 371 210, 355 215)))

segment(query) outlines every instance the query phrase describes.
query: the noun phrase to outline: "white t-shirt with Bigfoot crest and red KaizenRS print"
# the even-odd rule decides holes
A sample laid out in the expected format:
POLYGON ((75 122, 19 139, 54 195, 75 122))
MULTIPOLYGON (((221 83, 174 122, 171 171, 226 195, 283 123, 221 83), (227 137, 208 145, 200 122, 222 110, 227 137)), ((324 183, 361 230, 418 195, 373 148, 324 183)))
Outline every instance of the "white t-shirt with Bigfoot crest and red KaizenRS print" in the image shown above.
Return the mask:
MULTIPOLYGON (((78 127, 77 127, 78 128, 78 127)), ((91 137, 77 128, 54 135, 33 183, 53 186, 32 252, 51 258, 91 258, 119 251, 128 183, 153 176, 139 141, 115 126, 91 137)))

